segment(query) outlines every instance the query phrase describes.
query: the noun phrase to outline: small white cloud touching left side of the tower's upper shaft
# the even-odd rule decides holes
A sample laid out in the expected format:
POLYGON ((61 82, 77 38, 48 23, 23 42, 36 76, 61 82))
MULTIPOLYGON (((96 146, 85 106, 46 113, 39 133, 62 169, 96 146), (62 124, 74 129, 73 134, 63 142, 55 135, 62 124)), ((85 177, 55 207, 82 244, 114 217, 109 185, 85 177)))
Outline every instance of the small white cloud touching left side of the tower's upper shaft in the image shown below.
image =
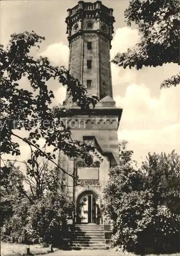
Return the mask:
POLYGON ((48 46, 40 55, 48 57, 53 65, 65 66, 65 68, 68 68, 69 47, 62 44, 62 42, 48 46))

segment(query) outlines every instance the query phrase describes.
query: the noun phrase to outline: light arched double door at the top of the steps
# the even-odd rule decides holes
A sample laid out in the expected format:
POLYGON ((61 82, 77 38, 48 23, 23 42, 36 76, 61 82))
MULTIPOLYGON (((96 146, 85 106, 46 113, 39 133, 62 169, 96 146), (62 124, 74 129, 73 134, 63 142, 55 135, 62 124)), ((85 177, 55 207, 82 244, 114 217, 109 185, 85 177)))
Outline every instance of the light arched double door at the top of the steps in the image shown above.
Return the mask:
POLYGON ((97 198, 93 194, 85 194, 80 198, 79 215, 81 223, 96 223, 97 198))

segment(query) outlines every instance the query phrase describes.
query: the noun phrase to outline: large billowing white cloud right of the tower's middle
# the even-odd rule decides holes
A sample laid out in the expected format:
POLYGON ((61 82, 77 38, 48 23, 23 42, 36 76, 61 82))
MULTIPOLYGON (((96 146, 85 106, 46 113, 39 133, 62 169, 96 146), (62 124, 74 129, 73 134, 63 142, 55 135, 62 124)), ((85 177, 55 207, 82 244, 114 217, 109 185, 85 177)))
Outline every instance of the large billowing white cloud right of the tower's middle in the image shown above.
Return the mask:
POLYGON ((123 97, 115 97, 117 106, 123 108, 119 140, 129 142, 134 159, 174 149, 180 154, 179 98, 180 87, 162 89, 159 97, 152 97, 145 84, 130 84, 123 97))

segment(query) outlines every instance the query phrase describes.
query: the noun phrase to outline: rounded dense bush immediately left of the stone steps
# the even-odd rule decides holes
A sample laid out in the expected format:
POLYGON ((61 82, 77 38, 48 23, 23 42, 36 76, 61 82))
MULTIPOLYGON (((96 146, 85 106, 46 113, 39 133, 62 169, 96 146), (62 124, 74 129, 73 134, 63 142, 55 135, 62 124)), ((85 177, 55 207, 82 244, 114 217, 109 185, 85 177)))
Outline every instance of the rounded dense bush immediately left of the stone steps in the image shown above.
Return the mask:
POLYGON ((63 245, 68 231, 66 223, 73 211, 73 205, 63 195, 49 196, 31 207, 27 232, 30 239, 39 238, 42 243, 63 245))

